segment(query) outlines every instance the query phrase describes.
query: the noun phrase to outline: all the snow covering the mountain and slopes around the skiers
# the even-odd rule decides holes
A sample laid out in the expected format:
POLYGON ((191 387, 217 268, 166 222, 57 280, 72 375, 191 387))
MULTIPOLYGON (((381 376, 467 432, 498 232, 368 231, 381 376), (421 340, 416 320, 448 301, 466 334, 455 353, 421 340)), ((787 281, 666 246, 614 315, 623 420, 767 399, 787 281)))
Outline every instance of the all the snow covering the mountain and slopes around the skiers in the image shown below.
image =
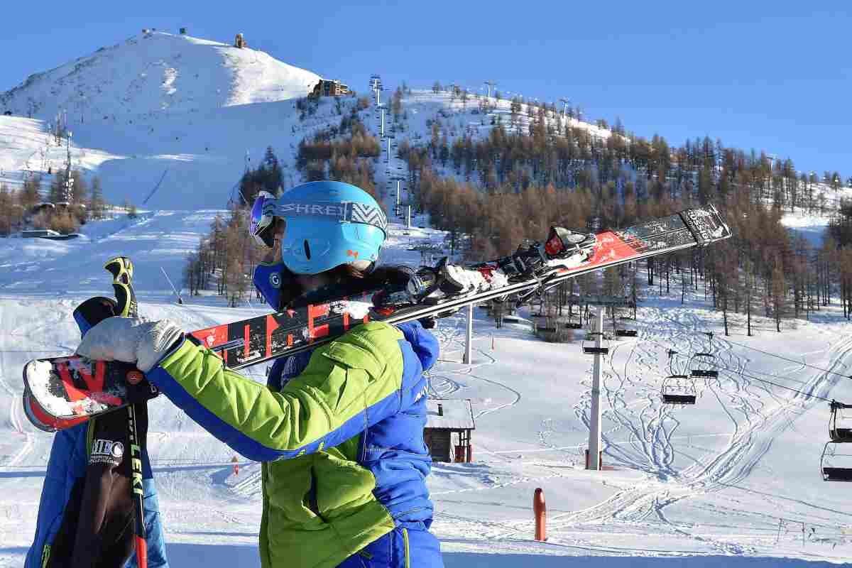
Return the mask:
MULTIPOLYGON (((297 96, 301 81, 308 84, 316 76, 283 65, 253 50, 154 33, 13 89, 15 104, 39 93, 43 103, 32 119, 20 118, 26 112, 18 108, 19 116, 0 117, 0 182, 20 184, 27 171, 43 172, 48 164, 56 169, 64 160, 64 147, 45 142, 55 112, 51 104, 68 107, 74 163, 101 176, 108 198, 120 203, 126 196, 141 204, 161 177, 162 182, 135 220, 118 216, 92 222, 83 227, 82 238, 69 241, 0 239, 0 567, 22 565, 32 542, 53 440, 24 416, 21 369, 30 359, 73 352, 79 336, 73 307, 91 295, 112 294, 103 270, 108 258, 133 259, 144 317, 172 318, 195 330, 266 311, 249 303, 227 308, 211 296, 185 297, 177 305, 161 269, 176 283, 181 280, 186 255, 222 213, 247 151, 255 162, 272 145, 285 178, 298 182, 292 167, 297 142, 339 123, 331 100, 322 100, 314 116, 299 119, 295 103, 286 99, 297 96), (124 55, 116 55, 118 50, 124 55), (203 70, 204 77, 196 79, 203 70), (109 93, 91 95, 81 123, 74 118, 79 109, 74 111, 72 86, 84 84, 94 93, 101 83, 109 93), (276 91, 281 85, 284 90, 276 91), (132 101, 125 105, 123 97, 132 101), (109 111, 108 118, 99 118, 95 108, 109 111)), ((395 146, 404 138, 428 140, 427 122, 435 120, 451 138, 465 131, 487 135, 490 117, 473 114, 475 107, 473 98, 465 108, 446 93, 414 91, 404 100, 403 129, 391 141, 395 146)), ((494 112, 508 125, 509 101, 499 102, 494 112)), ((362 118, 377 132, 375 106, 362 118)), ((521 128, 525 121, 522 112, 521 128)), ((406 169, 394 148, 377 160, 377 186, 386 204, 394 201, 397 175, 406 177, 406 169)), ((406 200, 403 184, 401 201, 406 200)), ((800 225, 816 227, 818 221, 800 225)), ((418 217, 413 225, 390 226, 383 261, 417 264, 417 245, 443 241, 441 232, 423 228, 427 219, 418 217)), ((429 261, 429 253, 423 258, 429 261)), ((614 341, 603 363, 607 470, 600 473, 583 468, 592 360, 581 353, 579 341, 538 340, 523 310, 519 323, 495 329, 477 308, 474 360, 466 365, 459 362, 464 311, 440 321, 436 335, 442 353, 430 373, 430 394, 471 399, 476 420, 475 462, 436 463, 428 482, 446 565, 704 568, 848 562, 852 492, 849 485, 823 482, 819 472, 827 404, 750 378, 852 399, 849 379, 822 371, 848 374, 852 364, 849 324, 838 307, 820 311, 810 322, 786 324, 782 334, 774 332, 772 322, 758 319, 753 337, 745 336, 734 316, 729 338, 722 336, 721 318, 709 309, 703 290, 688 294, 684 305, 679 290, 661 296, 648 290, 638 312, 631 326, 638 337, 614 341), (700 333, 705 330, 717 333, 719 379, 698 383, 694 407, 660 404, 666 350, 705 349, 700 333), (544 489, 548 505, 548 542, 533 541, 536 487, 544 489)), ((247 373, 262 381, 264 366, 247 373)), ((149 446, 172 565, 259 566, 259 464, 240 462, 239 476, 233 476, 227 446, 162 397, 150 408, 149 446)))

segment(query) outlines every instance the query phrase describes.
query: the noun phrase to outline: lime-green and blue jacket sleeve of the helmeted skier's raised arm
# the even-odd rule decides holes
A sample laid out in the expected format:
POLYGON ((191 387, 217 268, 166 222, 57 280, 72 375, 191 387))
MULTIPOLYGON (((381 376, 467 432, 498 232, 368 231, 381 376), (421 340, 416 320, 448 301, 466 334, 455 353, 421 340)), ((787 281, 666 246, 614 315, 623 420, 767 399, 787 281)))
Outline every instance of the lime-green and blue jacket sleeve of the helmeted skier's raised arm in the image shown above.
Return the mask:
POLYGON ((184 341, 147 374, 195 422, 242 456, 288 459, 342 444, 423 395, 423 364, 400 330, 371 322, 318 347, 274 393, 184 341))

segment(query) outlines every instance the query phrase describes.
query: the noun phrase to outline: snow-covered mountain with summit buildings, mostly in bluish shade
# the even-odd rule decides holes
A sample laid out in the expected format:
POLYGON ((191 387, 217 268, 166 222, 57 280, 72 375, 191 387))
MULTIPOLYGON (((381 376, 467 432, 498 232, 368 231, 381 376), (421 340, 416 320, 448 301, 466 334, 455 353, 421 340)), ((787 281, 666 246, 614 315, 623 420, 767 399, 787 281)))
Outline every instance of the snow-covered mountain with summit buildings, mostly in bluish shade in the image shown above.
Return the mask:
POLYGON ((246 155, 260 158, 269 144, 291 152, 306 128, 292 99, 319 78, 254 49, 130 37, 0 95, 14 115, 0 117, 0 182, 64 164, 66 149, 49 137, 61 112, 74 167, 100 176, 107 199, 141 204, 156 187, 149 206, 223 207, 246 155))

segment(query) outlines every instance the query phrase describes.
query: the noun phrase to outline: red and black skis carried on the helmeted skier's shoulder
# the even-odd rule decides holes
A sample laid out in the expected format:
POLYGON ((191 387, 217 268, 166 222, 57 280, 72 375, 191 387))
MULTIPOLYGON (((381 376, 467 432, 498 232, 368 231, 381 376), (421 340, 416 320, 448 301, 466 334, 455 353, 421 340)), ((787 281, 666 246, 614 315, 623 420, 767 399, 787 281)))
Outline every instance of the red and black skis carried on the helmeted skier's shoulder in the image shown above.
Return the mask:
MULTIPOLYGON (((731 236, 712 205, 686 209, 622 230, 599 232, 586 248, 559 238, 566 233, 570 232, 553 227, 544 243, 521 245, 513 255, 463 266, 465 273, 484 275, 484 278, 477 278, 480 282, 488 282, 473 290, 444 294, 437 290, 437 284, 428 287, 423 283, 418 284, 426 289, 421 287, 414 292, 412 286, 408 290, 384 287, 355 297, 195 330, 187 335, 219 354, 228 368, 239 370, 314 349, 362 322, 400 324, 414 319, 440 318, 469 304, 509 295, 518 295, 521 301, 585 273, 706 246, 731 236), (561 244, 561 248, 554 249, 554 242, 561 244), (500 278, 494 278, 495 273, 500 278), (492 284, 496 282, 500 284, 492 284)), ((25 401, 29 401, 30 406, 26 408, 26 416, 37 427, 55 431, 156 396, 156 388, 147 381, 140 381, 140 375, 133 365, 91 361, 77 355, 30 361, 24 367, 28 393, 25 401), (57 384, 62 388, 55 387, 57 384), (48 389, 48 385, 53 388, 48 389)))

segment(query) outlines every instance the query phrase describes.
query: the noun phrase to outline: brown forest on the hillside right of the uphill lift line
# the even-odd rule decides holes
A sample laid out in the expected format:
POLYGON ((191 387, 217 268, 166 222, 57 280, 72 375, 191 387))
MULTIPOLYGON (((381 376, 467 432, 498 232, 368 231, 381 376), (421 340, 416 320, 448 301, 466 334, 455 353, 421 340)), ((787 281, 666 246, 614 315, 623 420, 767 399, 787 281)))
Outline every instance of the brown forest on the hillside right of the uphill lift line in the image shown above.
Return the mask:
MULTIPOLYGON (((740 313, 749 335, 754 314, 774 319, 780 331, 782 321, 809 317, 832 295, 852 317, 852 205, 832 214, 830 238, 821 245, 794 237, 780 222, 793 209, 832 213, 830 197, 843 185, 838 172, 797 173, 791 159, 710 138, 672 148, 660 136, 602 140, 580 128, 560 132, 546 112, 538 108, 526 133, 497 124, 485 139, 463 135, 451 144, 439 126, 423 146, 400 144, 414 205, 450 233, 452 244, 468 236, 471 260, 510 254, 525 238, 544 238, 550 225, 618 229, 712 203, 734 237, 649 259, 647 284, 661 291, 675 285, 682 297, 703 285, 726 331, 728 316, 740 313)), ((615 270, 624 280, 625 269, 615 270)))

